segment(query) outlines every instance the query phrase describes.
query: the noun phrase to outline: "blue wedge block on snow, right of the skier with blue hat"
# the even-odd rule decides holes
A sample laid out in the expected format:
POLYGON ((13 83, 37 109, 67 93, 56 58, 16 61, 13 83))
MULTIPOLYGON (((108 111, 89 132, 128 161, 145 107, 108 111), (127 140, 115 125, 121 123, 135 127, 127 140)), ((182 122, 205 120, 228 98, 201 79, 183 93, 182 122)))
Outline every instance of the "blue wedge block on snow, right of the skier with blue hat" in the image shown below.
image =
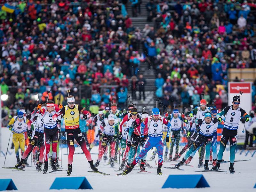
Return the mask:
POLYGON ((203 175, 169 175, 162 188, 210 187, 203 175))

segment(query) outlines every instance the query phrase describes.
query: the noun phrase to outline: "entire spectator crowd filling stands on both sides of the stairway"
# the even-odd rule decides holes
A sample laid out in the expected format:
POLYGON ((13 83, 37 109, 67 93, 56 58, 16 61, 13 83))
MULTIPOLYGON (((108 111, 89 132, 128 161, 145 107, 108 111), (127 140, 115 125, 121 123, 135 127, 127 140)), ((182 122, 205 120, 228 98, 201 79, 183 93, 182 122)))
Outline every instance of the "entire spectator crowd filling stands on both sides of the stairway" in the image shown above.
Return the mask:
POLYGON ((1 91, 9 95, 5 109, 31 111, 36 96, 45 101, 49 90, 49 98, 57 102, 60 96, 65 103, 68 89, 83 107, 116 102, 123 108, 129 89, 134 100, 136 91, 145 100, 146 80, 139 73, 145 59, 155 70, 156 96, 164 108, 174 101, 181 107, 197 105, 203 92, 218 108, 227 105, 228 68, 256 67, 255 5, 150 0, 147 20, 154 27, 140 30, 126 8, 132 6, 137 16, 141 2, 0 1, 15 7, 12 14, 0 10, 1 91), (131 83, 129 76, 135 78, 131 83))

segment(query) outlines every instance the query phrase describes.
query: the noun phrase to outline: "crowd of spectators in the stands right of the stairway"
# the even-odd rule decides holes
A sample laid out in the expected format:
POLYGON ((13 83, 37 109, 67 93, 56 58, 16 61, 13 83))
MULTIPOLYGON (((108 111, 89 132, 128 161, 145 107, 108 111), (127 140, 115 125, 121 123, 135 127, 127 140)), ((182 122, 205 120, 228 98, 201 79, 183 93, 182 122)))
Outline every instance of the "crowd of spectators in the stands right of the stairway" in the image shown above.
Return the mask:
MULTIPOLYGON (((145 25, 142 40, 164 110, 173 102, 198 105, 201 93, 209 104, 216 100, 218 109, 225 107, 228 69, 256 67, 256 6, 236 0, 150 0, 146 7, 154 27, 145 25)), ((252 97, 254 103, 255 83, 252 97)))

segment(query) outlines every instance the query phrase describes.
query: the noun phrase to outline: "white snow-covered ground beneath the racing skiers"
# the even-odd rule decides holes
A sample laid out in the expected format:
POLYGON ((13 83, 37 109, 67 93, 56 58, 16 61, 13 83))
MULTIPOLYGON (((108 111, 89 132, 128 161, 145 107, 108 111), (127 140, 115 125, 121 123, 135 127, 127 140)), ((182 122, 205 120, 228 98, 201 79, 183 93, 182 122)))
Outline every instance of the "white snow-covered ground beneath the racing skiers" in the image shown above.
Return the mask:
MULTIPOLYGON (((2 130, 2 150, 6 150, 9 134, 6 135, 5 130, 2 130)), ((98 147, 92 149, 92 153, 97 153, 98 147)), ((11 150, 10 150, 11 151, 11 150)), ((76 148, 75 152, 81 152, 80 148, 76 148)), ((62 153, 67 153, 67 149, 63 148, 62 153)), ((151 152, 148 153, 148 157, 151 156, 151 152)), ((229 151, 224 152, 223 158, 229 160, 229 151)), ((92 155, 92 159, 96 162, 97 155, 92 155)), ((110 168, 109 165, 105 166, 104 160, 101 161, 98 169, 102 172, 109 173, 109 176, 100 175, 97 173, 88 173, 90 166, 84 155, 74 155, 72 177, 86 177, 91 184, 94 191, 255 191, 254 185, 256 183, 256 158, 251 156, 236 155, 236 160, 251 159, 250 161, 237 162, 235 164, 235 174, 223 173, 223 172, 204 172, 204 178, 210 185, 210 188, 196 188, 196 189, 162 189, 162 186, 169 175, 174 174, 199 174, 194 170, 203 170, 203 168, 197 168, 198 153, 192 159, 191 165, 194 167, 182 166, 184 171, 164 169, 162 168, 163 175, 157 175, 156 169, 148 169, 151 173, 137 173, 138 170, 133 170, 126 176, 115 176, 114 168, 110 168)), ((30 164, 30 157, 28 158, 30 164)), ((60 162, 59 162, 60 163, 60 162)), ((148 161, 151 166, 156 166, 155 161, 148 161)), ((173 163, 173 162, 172 162, 173 163)), ((4 156, 0 156, 0 164, 4 164, 4 156)), ((5 166, 14 166, 16 164, 16 158, 14 153, 7 155, 5 166)), ((164 162, 164 166, 170 165, 170 162, 164 162)), ((62 155, 62 167, 67 169, 67 155, 62 155)), ((116 169, 118 164, 115 165, 116 169)), ((211 166, 210 166, 211 167, 211 166)), ((229 163, 221 164, 221 168, 228 171, 229 163)), ((26 167, 26 171, 13 171, 12 169, 0 168, 0 179, 11 178, 16 187, 20 191, 47 191, 56 177, 66 177, 66 171, 54 172, 50 174, 43 174, 37 172, 33 162, 32 167, 26 167)), ((51 168, 49 167, 49 171, 51 168)), ((119 172, 118 172, 119 173, 119 172)), ((70 177, 71 177, 70 176, 70 177)), ((184 183, 187 181, 184 180, 184 183)), ((59 191, 59 190, 51 190, 59 191)), ((63 191, 75 191, 63 189, 63 191)))

